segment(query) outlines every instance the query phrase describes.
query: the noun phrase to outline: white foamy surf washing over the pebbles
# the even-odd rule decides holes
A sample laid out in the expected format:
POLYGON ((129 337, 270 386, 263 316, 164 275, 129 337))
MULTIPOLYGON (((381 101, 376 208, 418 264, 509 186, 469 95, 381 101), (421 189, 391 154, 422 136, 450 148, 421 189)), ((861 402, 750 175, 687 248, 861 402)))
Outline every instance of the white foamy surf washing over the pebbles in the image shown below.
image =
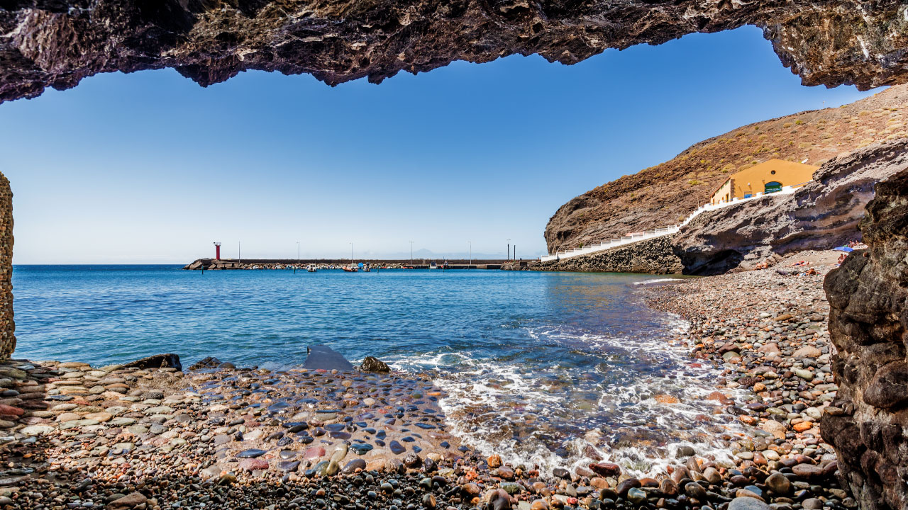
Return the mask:
MULTIPOLYGON (((688 328, 666 319, 667 337, 688 328)), ((713 417, 718 370, 688 358, 689 348, 668 338, 610 338, 558 327, 527 328, 528 336, 601 355, 596 376, 552 373, 518 362, 479 358, 470 351, 390 358, 397 369, 429 370, 448 397, 440 407, 449 430, 484 455, 497 453, 515 465, 543 473, 576 468, 597 457, 637 476, 664 472, 677 448, 732 466, 718 438, 738 426, 713 417), (655 367, 653 374, 647 369, 655 367), (658 395, 674 396, 656 399, 658 395), (589 397, 594 396, 592 400, 589 397)))

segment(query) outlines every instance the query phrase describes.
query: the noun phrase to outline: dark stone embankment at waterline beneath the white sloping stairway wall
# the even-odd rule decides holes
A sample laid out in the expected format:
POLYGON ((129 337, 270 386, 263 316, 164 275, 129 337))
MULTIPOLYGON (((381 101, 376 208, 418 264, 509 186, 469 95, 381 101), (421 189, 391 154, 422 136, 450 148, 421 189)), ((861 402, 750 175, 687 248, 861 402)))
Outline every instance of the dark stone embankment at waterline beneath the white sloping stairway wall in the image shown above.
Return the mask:
POLYGON ((543 271, 594 271, 620 273, 676 274, 683 269, 672 250, 672 238, 641 240, 620 248, 598 251, 565 260, 534 264, 543 271))

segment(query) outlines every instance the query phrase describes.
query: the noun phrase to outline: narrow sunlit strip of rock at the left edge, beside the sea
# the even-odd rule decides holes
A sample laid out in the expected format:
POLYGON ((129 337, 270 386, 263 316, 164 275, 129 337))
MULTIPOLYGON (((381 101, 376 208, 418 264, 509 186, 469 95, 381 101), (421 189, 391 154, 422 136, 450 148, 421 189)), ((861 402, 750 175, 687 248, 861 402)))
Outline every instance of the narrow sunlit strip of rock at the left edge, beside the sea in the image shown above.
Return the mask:
POLYGON ((13 319, 13 191, 0 172, 0 360, 15 350, 13 319))

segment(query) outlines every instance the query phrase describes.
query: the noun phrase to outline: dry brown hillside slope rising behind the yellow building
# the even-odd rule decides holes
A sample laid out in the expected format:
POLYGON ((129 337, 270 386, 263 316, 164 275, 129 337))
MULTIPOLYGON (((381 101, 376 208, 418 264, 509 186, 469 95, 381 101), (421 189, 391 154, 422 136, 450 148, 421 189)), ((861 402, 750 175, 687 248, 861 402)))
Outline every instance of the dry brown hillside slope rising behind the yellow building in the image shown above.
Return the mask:
POLYGON ((753 123, 696 143, 674 159, 597 187, 549 219, 549 253, 675 224, 729 173, 772 158, 819 165, 873 142, 908 136, 908 85, 839 108, 753 123))

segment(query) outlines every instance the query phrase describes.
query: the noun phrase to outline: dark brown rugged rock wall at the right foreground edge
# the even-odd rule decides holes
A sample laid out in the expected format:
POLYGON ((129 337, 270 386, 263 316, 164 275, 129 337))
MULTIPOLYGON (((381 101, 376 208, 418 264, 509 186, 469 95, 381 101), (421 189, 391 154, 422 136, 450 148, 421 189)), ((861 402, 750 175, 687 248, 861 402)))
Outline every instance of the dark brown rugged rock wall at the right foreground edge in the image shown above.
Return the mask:
POLYGON ((908 170, 876 186, 868 250, 825 280, 838 395, 822 420, 864 510, 908 507, 908 170))

